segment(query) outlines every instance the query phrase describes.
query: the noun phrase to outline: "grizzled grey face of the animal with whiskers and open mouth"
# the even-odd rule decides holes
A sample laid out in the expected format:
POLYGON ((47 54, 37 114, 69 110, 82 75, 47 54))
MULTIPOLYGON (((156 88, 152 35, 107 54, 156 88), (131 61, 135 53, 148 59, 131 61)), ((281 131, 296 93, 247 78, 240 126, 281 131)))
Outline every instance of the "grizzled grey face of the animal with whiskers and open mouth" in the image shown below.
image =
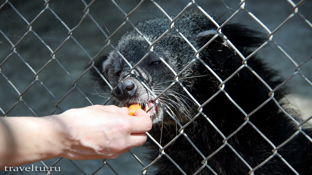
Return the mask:
MULTIPOLYGON (((157 36, 146 37, 153 41, 157 36)), ((148 42, 136 32, 123 36, 117 51, 112 51, 102 64, 104 77, 113 88, 116 87, 113 94, 117 105, 140 104, 144 110, 151 108, 148 113, 154 123, 163 121, 163 116, 169 117, 167 113, 180 121, 185 117, 180 114, 185 115, 185 108, 190 102, 186 100, 188 98, 185 92, 175 80, 181 77, 176 76, 177 73, 187 65, 187 60, 191 60, 193 55, 186 54, 188 57, 181 59, 177 54, 190 48, 185 41, 179 42, 180 45, 184 44, 184 51, 175 45, 166 46, 167 42, 176 40, 181 38, 168 35, 151 50, 148 42)), ((189 71, 184 71, 183 76, 189 71)))

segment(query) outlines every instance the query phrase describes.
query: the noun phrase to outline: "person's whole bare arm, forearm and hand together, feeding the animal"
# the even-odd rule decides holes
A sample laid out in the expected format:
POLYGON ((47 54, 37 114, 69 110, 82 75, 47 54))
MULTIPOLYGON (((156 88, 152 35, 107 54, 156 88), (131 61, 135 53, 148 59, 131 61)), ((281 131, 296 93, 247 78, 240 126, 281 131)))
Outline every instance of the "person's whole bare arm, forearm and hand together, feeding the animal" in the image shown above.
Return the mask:
POLYGON ((151 118, 142 109, 93 105, 46 117, 0 117, 0 170, 54 157, 115 158, 146 141, 151 118))

